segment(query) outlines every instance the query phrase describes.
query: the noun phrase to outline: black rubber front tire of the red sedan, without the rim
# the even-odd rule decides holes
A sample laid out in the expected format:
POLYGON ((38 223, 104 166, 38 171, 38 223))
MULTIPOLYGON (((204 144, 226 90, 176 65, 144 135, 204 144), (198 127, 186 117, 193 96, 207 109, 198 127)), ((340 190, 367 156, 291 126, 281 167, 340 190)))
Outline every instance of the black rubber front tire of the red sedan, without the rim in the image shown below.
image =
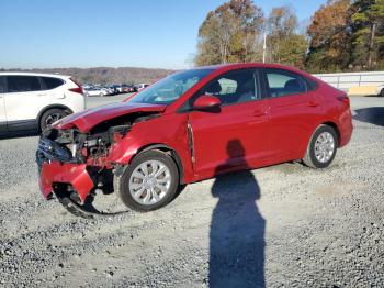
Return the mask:
MULTIPOLYGON (((179 170, 174 160, 168 154, 158 149, 143 152, 132 160, 123 176, 116 179, 114 187, 117 190, 116 192, 122 199, 123 203, 129 209, 137 212, 154 211, 161 207, 165 207, 176 197, 179 188, 179 170), (148 160, 157 160, 162 163, 169 169, 171 178, 170 186, 166 195, 154 204, 139 203, 129 192, 129 179, 132 174, 139 165, 148 160)), ((147 193, 147 191, 145 193, 147 193)))

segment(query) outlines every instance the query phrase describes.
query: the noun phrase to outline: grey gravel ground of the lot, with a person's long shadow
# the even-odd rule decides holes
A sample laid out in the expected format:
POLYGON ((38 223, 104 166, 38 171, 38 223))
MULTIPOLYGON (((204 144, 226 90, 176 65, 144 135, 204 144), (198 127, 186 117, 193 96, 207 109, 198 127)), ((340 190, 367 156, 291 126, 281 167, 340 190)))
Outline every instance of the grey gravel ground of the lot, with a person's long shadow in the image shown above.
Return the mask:
MULTIPOLYGON (((41 197, 37 136, 0 140, 0 286, 384 287, 384 99, 352 108, 328 169, 231 174, 159 211, 94 220, 41 197)), ((124 209, 114 195, 97 204, 124 209)))

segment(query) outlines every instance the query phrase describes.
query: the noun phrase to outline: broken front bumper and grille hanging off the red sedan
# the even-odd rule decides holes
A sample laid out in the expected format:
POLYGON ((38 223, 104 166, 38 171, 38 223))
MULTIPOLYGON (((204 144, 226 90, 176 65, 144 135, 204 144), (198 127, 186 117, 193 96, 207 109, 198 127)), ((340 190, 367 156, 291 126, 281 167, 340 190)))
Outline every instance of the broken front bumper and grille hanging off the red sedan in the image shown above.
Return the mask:
POLYGON ((39 173, 39 189, 46 200, 55 195, 68 212, 87 219, 94 215, 115 215, 125 212, 103 213, 92 206, 93 190, 99 177, 111 178, 112 182, 112 171, 99 174, 94 167, 79 163, 68 147, 44 136, 38 143, 36 162, 39 173))

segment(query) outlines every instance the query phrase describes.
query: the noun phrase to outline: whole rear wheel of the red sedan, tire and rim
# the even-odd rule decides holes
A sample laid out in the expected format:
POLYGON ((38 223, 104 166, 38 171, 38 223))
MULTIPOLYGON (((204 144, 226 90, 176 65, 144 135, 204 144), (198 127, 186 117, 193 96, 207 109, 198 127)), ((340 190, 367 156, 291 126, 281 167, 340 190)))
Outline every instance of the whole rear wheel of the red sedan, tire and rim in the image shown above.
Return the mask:
POLYGON ((303 162, 312 168, 326 168, 332 163, 337 147, 338 136, 335 129, 320 125, 312 135, 303 162))

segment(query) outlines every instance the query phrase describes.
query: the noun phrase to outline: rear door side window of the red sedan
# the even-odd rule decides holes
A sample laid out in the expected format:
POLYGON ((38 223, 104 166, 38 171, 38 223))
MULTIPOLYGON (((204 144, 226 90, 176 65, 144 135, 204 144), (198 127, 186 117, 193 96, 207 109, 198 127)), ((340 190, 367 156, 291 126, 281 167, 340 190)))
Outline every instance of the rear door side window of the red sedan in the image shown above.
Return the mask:
POLYGON ((295 73, 281 69, 266 69, 266 78, 269 95, 272 98, 308 91, 306 80, 295 73))

